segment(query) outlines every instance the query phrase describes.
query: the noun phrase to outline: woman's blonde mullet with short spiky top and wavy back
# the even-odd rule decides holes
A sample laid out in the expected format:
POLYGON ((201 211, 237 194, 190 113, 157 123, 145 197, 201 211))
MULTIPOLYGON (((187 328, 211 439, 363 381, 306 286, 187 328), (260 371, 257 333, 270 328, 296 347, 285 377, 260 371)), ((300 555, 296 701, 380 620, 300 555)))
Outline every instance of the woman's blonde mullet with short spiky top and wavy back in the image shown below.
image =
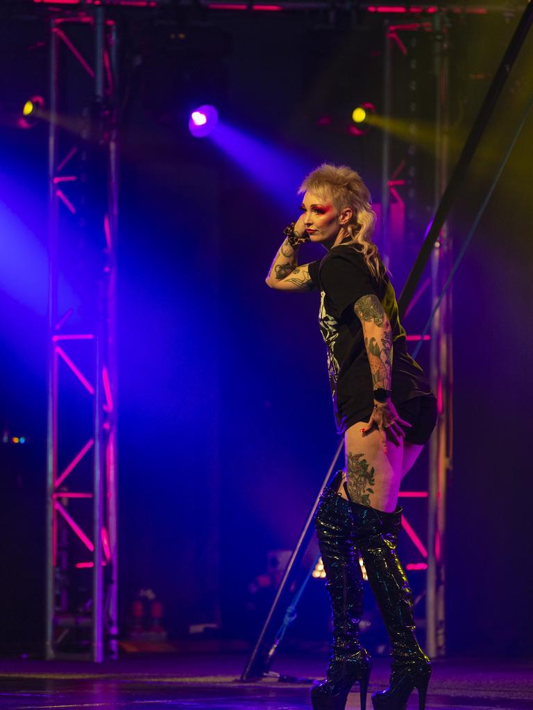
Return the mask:
POLYGON ((352 208, 353 217, 346 225, 351 241, 343 242, 343 246, 353 245, 364 256, 370 273, 377 279, 383 278, 385 269, 372 241, 376 213, 372 209, 370 192, 359 173, 348 165, 323 163, 303 180, 298 195, 303 192, 314 192, 323 199, 329 197, 337 212, 342 212, 345 207, 352 208))

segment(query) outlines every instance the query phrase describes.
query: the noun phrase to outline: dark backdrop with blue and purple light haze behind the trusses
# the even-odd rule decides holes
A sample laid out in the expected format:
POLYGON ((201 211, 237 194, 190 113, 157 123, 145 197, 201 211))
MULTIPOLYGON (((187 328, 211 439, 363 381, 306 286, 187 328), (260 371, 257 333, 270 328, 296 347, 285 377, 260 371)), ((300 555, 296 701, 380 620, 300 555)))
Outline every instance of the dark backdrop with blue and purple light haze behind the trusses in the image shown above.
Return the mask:
MULTIPOLYGON (((453 20, 452 164, 515 22, 453 20), (473 43, 476 34, 483 43, 473 43)), ((8 114, 28 94, 46 92, 46 33, 39 19, 12 19, 1 32, 11 70, 1 79, 0 200, 9 212, 0 226, 0 417, 10 435, 28 437, 26 448, 1 447, 1 606, 10 610, 2 641, 28 652, 43 640, 46 129, 15 129, 8 114)), ((249 585, 266 573, 269 551, 294 545, 337 446, 316 295, 271 291, 264 276, 297 214, 299 182, 323 160, 360 170, 379 200, 379 131, 352 136, 345 116, 362 101, 379 112, 382 24, 354 13, 333 21, 320 13, 154 21, 144 13, 125 17, 121 33, 122 635, 136 592, 149 587, 171 638, 211 622, 223 638, 253 638, 269 589, 252 594, 249 585), (171 37, 179 33, 184 40, 171 37), (204 102, 219 107, 220 138, 188 133, 190 110, 204 102), (329 129, 318 126, 321 116, 332 118, 329 129)), ((432 120, 433 42, 431 33, 419 38, 408 58, 427 65, 421 122, 432 120)), ((529 99, 531 53, 530 41, 453 211, 457 247, 529 99)), ((398 114, 407 110, 408 68, 400 60, 395 68, 398 114)), ((525 655, 533 632, 532 140, 529 119, 453 285, 451 654, 525 655)), ((431 216, 431 180, 431 160, 421 157, 411 236, 391 264, 398 293, 431 216)), ((302 250, 303 261, 319 256, 302 250)), ((416 332, 424 313, 410 319, 416 332)), ((424 487, 423 463, 408 488, 424 487)), ((423 531, 424 512, 409 515, 423 531)), ((418 562, 402 545, 404 559, 418 562)), ((417 575, 410 578, 420 591, 417 575)), ((328 638, 320 584, 310 584, 293 640, 328 638)))

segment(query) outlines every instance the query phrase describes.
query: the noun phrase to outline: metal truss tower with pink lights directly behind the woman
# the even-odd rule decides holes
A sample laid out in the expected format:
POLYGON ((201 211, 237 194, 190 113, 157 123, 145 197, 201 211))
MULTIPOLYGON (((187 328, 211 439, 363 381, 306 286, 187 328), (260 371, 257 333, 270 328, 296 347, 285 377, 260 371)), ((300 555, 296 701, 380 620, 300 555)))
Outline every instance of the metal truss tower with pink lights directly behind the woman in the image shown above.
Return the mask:
MULTIPOLYGON (((382 239, 384 252, 388 257, 394 251, 394 245, 402 247, 409 242, 407 224, 409 214, 421 211, 420 196, 416 191, 416 139, 419 132, 416 111, 417 84, 420 74, 427 72, 421 67, 416 57, 416 35, 431 35, 433 41, 434 104, 432 123, 434 124, 433 158, 433 195, 431 205, 436 209, 441 200, 448 180, 448 33, 446 13, 435 13, 431 20, 397 22, 386 21, 384 33, 384 83, 383 108, 385 121, 394 120, 394 71, 399 71, 399 64, 406 67, 405 83, 402 89, 409 92, 407 103, 412 114, 406 121, 412 141, 396 142, 397 164, 392 163, 394 133, 387 125, 382 137, 382 239), (418 200, 418 201, 417 201, 418 200)), ((428 87, 426 86, 426 91, 428 87)), ((424 98, 427 96, 424 94, 424 98)), ((427 136, 426 136, 427 138, 427 136)), ((426 175, 427 177, 427 175, 426 175)), ((412 236, 412 235, 411 235, 412 236)), ((419 237, 419 230, 416 230, 419 237)), ((412 241, 412 239, 411 239, 412 241)), ((409 244, 407 244, 409 246, 409 244)), ((412 245, 411 245, 412 246, 412 245)), ((418 247, 417 247, 418 249, 418 247)), ((394 261, 394 259, 393 259, 394 261)), ((407 329, 409 313, 415 307, 424 310, 424 320, 429 317, 431 308, 441 293, 452 266, 452 244, 446 225, 434 245, 431 269, 427 278, 421 280, 418 290, 407 307, 405 318, 407 329), (417 305, 418 304, 418 305, 417 305)), ((415 313, 416 315, 416 313, 415 313)), ((421 314, 418 314, 419 316, 421 314)), ((409 340, 420 341, 421 336, 408 336, 409 340)), ((407 564, 407 569, 419 569, 424 572, 426 599, 426 651, 431 657, 446 654, 445 636, 445 520, 446 520, 446 484, 451 473, 452 451, 452 398, 453 398, 453 360, 452 360, 452 293, 448 290, 431 323, 431 334, 424 335, 424 342, 418 347, 429 348, 424 354, 428 365, 431 386, 438 402, 438 420, 436 430, 429 443, 429 461, 427 488, 424 491, 400 493, 404 498, 416 497, 427 503, 427 532, 414 530, 409 521, 402 520, 407 535, 410 537, 420 557, 420 562, 407 564)), ((424 517, 424 516, 421 516, 424 517)))

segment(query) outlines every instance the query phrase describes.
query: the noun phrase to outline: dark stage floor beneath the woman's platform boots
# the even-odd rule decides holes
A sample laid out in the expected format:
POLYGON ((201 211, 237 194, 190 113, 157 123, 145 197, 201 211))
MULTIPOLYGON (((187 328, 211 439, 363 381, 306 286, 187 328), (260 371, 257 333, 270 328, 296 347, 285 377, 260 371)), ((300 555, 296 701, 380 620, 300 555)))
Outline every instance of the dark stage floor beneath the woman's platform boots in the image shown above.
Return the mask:
MULTIPOLYGON (((237 680, 243 655, 134 657, 95 666, 80 662, 0 661, 0 707, 6 710, 304 710, 309 685, 237 680)), ((298 677, 322 677, 325 658, 279 655, 273 667, 298 677)), ((375 662, 370 690, 387 684, 386 660, 375 662)), ((348 710, 359 708, 357 692, 348 710)), ((370 710, 372 704, 367 703, 370 710)), ((409 709, 418 708, 416 691, 409 709)), ((533 710, 533 660, 434 662, 426 710, 533 710)))

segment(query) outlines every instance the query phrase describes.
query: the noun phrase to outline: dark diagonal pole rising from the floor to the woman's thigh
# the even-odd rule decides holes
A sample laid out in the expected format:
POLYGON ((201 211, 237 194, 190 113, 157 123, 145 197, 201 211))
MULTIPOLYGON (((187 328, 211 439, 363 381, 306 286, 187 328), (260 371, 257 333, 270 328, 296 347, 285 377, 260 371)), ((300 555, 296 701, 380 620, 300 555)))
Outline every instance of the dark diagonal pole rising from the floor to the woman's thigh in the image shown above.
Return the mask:
POLYGON ((330 479, 333 476, 333 469, 335 469, 335 464, 343 449, 344 439, 340 439, 337 451, 331 461, 331 465, 328 469, 328 473, 325 474, 325 479, 320 488, 316 501, 309 513, 306 520, 306 524, 303 526, 303 530, 300 533, 298 542, 296 542, 296 547, 291 555, 291 559, 287 563, 284 575, 279 583, 278 591, 272 605, 268 616, 266 616, 266 621, 263 624, 257 643, 254 646, 254 650, 247 660, 247 664, 241 675, 241 680, 257 680, 262 678, 267 670, 269 670, 269 665, 272 662, 274 653, 271 650, 276 647, 276 631, 279 629, 280 621, 284 615, 284 609, 288 606, 291 595, 291 584, 293 583, 296 574, 298 573, 298 567, 301 563, 303 555, 305 555, 309 541, 313 535, 313 519, 315 517, 316 508, 318 507, 318 502, 320 501, 320 496, 323 488, 328 485, 330 479))

